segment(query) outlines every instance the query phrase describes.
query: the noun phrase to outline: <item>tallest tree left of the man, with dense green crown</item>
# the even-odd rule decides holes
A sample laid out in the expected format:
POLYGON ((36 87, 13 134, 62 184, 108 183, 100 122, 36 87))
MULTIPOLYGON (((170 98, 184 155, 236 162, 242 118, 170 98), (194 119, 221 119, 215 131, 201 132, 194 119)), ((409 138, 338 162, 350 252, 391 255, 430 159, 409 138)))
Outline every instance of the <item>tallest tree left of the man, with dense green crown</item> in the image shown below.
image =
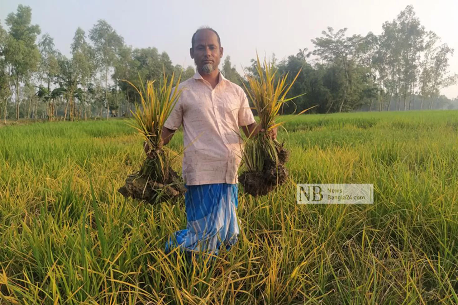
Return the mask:
POLYGON ((40 53, 35 44, 40 27, 31 25, 31 21, 32 9, 23 5, 18 5, 16 13, 10 13, 6 18, 10 37, 4 54, 14 82, 16 120, 19 119, 19 85, 22 81, 27 81, 32 72, 37 70, 40 61, 40 53))

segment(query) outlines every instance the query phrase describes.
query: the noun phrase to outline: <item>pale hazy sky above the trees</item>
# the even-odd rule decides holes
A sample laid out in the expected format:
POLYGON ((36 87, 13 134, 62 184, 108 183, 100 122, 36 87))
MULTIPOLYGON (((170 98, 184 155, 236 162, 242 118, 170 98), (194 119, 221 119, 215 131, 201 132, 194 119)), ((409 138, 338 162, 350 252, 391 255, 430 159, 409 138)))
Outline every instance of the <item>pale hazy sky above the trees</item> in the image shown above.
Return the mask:
MULTIPOLYGON (((0 20, 17 5, 32 7, 33 23, 55 39, 68 54, 77 27, 86 33, 105 19, 133 47, 166 51, 174 64, 193 64, 189 58, 192 33, 202 25, 218 31, 224 55, 241 70, 259 53, 278 59, 313 48, 311 39, 326 27, 348 27, 349 34, 380 34, 382 23, 393 20, 407 5, 414 5, 421 24, 436 32, 458 52, 458 0, 0 0, 0 20), (281 5, 280 5, 281 3, 281 5)), ((450 61, 458 73, 458 54, 450 61)), ((458 96, 458 85, 444 89, 458 96)))

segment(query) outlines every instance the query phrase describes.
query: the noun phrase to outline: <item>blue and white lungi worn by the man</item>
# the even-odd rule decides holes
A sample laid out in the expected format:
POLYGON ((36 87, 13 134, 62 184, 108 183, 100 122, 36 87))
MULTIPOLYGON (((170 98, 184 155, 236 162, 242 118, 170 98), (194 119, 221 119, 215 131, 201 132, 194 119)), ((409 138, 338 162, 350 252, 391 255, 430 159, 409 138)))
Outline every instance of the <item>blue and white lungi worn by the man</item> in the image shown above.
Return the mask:
POLYGON ((186 229, 176 231, 165 245, 169 253, 174 247, 218 254, 221 246, 227 250, 235 244, 239 225, 235 210, 238 206, 238 185, 228 183, 186 186, 186 229))

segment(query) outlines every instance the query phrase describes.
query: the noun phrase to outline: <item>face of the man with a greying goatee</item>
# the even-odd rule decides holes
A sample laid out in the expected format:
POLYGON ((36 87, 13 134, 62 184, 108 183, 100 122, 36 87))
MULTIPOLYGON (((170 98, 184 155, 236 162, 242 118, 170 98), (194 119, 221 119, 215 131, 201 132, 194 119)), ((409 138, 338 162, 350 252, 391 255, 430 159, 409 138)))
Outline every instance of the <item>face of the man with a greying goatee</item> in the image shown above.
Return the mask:
POLYGON ((194 59, 199 72, 211 74, 218 69, 223 57, 223 48, 218 43, 218 37, 213 31, 201 30, 194 36, 194 48, 191 48, 191 58, 194 59))

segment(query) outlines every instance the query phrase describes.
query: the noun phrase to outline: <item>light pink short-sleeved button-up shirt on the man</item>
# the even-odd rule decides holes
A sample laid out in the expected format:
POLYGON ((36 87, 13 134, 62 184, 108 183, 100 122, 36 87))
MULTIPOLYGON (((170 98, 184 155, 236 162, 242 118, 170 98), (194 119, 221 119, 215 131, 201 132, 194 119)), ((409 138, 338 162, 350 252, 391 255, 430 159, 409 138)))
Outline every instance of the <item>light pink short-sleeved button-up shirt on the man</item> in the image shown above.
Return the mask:
POLYGON ((176 130, 183 124, 186 184, 238 183, 240 126, 256 122, 245 92, 221 72, 214 89, 199 72, 179 88, 183 91, 164 126, 176 130))

